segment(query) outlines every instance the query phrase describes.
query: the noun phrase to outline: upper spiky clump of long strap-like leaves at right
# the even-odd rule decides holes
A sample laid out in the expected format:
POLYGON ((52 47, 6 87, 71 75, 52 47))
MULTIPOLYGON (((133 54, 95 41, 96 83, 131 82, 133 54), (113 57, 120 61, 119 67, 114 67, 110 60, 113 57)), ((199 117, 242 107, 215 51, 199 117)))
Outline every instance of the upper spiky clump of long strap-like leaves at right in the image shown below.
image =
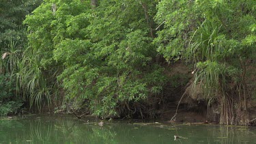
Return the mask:
POLYGON ((205 20, 191 37, 184 57, 195 62, 205 59, 221 61, 225 57, 238 53, 240 46, 238 40, 228 40, 227 36, 221 33, 221 29, 222 26, 205 20))

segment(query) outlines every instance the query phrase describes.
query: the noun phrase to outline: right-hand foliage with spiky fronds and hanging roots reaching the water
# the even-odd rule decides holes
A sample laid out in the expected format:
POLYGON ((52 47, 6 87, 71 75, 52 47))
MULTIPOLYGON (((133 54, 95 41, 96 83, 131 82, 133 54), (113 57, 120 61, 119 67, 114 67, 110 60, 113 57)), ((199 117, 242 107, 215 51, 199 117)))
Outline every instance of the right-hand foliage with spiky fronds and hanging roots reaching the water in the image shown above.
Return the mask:
POLYGON ((161 1, 158 5, 156 20, 165 22, 156 39, 158 51, 167 60, 183 57, 196 63, 194 83, 201 83, 206 98, 218 98, 222 124, 233 124, 233 103, 238 97, 241 102, 242 91, 243 107, 247 107, 245 61, 255 59, 255 8, 255 1, 161 1))

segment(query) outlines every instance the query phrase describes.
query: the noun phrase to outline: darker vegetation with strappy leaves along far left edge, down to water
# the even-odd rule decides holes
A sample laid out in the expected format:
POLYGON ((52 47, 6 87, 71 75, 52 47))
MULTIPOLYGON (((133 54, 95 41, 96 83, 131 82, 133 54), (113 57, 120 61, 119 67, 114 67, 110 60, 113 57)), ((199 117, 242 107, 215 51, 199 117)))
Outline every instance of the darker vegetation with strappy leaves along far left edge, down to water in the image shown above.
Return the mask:
POLYGON ((0 2, 0 115, 16 113, 26 98, 17 91, 16 73, 23 61, 27 48, 27 29, 22 25, 25 16, 34 10, 40 1, 1 1, 0 2))

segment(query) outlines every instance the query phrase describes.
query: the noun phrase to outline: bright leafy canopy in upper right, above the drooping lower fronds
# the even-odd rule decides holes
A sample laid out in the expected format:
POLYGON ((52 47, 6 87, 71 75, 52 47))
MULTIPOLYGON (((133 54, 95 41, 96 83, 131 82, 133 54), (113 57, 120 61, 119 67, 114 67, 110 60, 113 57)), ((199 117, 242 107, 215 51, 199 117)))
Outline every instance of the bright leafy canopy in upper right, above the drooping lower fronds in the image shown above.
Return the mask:
MULTIPOLYGON (((205 57, 212 59, 214 51, 218 53, 216 58, 236 53, 237 50, 232 49, 233 46, 241 45, 238 44, 241 38, 248 35, 249 30, 253 31, 255 16, 252 6, 248 5, 251 2, 243 1, 242 4, 238 1, 222 0, 161 1, 155 16, 160 30, 158 38, 155 39, 158 51, 167 60, 179 57, 190 46, 193 48, 190 54, 200 55, 201 59, 205 57), (244 8, 244 5, 247 6, 244 8), (232 44, 233 42, 235 44, 232 44), (201 51, 196 52, 196 49, 201 51), (221 56, 220 52, 223 51, 225 51, 224 56, 221 56)), ((253 42, 253 37, 248 37, 246 40, 250 44, 253 42)))

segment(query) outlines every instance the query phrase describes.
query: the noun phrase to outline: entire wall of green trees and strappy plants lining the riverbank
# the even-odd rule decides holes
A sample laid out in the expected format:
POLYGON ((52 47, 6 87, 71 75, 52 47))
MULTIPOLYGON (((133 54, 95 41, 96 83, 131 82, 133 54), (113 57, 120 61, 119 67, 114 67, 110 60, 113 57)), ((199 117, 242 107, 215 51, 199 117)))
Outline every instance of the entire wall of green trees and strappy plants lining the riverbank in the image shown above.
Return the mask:
POLYGON ((193 89, 199 84, 208 106, 219 104, 221 124, 234 124, 234 112, 247 110, 255 1, 44 0, 23 22, 26 39, 20 23, 40 1, 31 2, 8 3, 12 11, 0 5, 10 11, 1 15, 8 56, 1 72, 12 73, 16 93, 31 106, 152 116, 167 87, 188 83, 189 76, 169 74, 165 58, 195 64, 193 89))

